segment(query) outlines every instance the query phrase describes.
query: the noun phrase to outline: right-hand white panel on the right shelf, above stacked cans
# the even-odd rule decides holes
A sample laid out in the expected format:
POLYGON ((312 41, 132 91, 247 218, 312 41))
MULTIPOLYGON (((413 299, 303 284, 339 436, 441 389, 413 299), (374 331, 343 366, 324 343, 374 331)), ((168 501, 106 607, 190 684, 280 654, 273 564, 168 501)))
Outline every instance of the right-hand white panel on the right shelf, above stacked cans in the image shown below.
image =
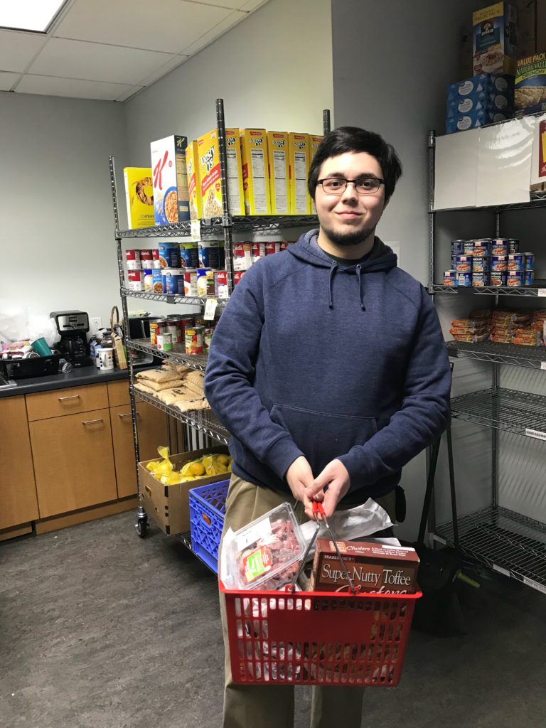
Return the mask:
POLYGON ((476 205, 529 202, 534 116, 480 130, 476 205))

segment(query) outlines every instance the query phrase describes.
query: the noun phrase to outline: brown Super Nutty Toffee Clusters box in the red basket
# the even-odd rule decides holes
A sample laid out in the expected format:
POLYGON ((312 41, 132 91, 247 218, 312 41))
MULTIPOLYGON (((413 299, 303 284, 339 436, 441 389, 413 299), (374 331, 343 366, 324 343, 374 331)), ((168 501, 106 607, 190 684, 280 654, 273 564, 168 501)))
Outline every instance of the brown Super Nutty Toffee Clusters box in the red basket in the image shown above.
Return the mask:
POLYGON ((337 541, 347 571, 330 539, 317 539, 311 572, 313 591, 349 591, 347 572, 363 592, 414 594, 418 590, 416 550, 372 541, 337 541))

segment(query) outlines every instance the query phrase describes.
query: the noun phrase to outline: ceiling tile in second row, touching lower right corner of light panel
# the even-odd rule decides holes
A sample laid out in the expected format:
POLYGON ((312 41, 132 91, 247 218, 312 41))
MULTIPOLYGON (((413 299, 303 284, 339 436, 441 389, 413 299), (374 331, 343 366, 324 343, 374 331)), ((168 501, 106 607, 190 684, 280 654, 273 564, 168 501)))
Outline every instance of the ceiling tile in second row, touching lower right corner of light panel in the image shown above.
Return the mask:
POLYGON ((168 53, 52 38, 28 69, 31 74, 138 84, 169 60, 168 53))

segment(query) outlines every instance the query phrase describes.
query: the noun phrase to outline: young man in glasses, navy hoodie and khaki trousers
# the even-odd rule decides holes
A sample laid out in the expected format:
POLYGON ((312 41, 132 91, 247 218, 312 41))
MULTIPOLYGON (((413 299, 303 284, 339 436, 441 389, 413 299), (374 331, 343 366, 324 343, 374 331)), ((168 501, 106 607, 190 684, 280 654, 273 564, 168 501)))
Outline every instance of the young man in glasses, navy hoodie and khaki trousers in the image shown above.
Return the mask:
MULTIPOLYGON (((371 497, 394 520, 402 467, 446 428, 434 306, 375 236, 401 173, 373 132, 325 136, 308 181, 320 228, 253 265, 222 314, 205 393, 232 434, 226 529, 294 499, 312 518, 312 499, 330 516, 371 497)), ((225 620, 224 642, 223 728, 291 727, 293 688, 233 684, 225 620)), ((313 688, 312 728, 360 728, 362 697, 313 688)))

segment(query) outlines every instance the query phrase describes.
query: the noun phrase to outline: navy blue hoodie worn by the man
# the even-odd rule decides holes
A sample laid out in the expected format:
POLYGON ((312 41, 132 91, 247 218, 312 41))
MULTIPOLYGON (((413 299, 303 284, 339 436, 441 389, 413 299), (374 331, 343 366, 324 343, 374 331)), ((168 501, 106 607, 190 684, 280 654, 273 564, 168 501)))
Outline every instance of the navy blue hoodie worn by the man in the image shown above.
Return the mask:
POLYGON ((215 329, 205 395, 232 434, 233 471, 290 493, 300 455, 316 476, 343 462, 345 503, 391 491, 446 428, 451 371, 438 316, 379 238, 342 266, 317 230, 261 258, 215 329))

